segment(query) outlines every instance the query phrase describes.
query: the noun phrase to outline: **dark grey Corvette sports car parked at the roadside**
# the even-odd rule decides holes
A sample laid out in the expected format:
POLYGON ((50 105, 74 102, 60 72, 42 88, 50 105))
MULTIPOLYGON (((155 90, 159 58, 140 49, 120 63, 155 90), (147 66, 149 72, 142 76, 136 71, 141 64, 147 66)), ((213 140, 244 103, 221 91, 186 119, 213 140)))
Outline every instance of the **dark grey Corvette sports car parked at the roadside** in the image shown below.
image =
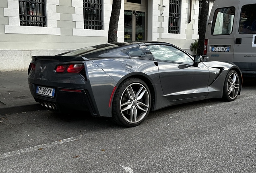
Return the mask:
POLYGON ((28 82, 47 109, 90 111, 125 127, 170 105, 210 98, 233 101, 242 74, 231 62, 203 62, 165 42, 117 42, 56 56, 32 56, 28 82))

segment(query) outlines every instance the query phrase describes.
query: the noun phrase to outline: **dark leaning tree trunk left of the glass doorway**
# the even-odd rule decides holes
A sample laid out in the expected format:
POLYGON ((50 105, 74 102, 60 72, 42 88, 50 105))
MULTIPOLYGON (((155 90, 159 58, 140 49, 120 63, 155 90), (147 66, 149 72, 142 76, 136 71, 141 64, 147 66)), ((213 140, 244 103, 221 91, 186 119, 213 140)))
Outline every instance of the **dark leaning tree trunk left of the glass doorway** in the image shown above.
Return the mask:
POLYGON ((112 12, 109 21, 108 28, 108 39, 107 42, 116 42, 117 41, 117 30, 118 30, 118 21, 120 16, 122 0, 113 0, 112 12))

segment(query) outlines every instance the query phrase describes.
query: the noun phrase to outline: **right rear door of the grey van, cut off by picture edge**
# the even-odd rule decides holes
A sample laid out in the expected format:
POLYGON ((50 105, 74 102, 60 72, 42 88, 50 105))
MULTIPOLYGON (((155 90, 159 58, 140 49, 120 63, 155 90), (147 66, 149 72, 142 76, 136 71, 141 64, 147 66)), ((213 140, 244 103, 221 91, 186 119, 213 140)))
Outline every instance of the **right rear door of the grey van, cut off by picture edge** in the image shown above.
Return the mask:
POLYGON ((233 62, 243 73, 256 74, 256 1, 241 0, 235 29, 233 62))

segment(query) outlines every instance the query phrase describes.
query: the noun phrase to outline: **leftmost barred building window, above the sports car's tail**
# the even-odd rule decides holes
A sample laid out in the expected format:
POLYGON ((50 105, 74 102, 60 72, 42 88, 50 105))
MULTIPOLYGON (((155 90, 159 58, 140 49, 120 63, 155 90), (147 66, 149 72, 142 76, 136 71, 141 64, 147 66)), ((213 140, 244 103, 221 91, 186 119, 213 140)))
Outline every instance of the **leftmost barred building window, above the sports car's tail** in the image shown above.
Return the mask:
POLYGON ((19 0, 21 26, 46 26, 45 0, 19 0))

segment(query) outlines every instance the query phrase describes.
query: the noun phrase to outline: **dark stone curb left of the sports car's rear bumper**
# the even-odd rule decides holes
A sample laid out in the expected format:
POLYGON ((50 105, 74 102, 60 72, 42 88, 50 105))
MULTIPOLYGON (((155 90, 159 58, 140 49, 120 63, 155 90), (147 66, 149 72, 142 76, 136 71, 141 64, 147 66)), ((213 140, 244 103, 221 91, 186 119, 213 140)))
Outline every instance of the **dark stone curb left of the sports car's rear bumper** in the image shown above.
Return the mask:
POLYGON ((43 107, 39 103, 29 103, 23 105, 15 105, 15 106, 4 106, 0 107, 0 115, 10 115, 14 113, 22 113, 25 111, 37 111, 41 110, 43 107))

